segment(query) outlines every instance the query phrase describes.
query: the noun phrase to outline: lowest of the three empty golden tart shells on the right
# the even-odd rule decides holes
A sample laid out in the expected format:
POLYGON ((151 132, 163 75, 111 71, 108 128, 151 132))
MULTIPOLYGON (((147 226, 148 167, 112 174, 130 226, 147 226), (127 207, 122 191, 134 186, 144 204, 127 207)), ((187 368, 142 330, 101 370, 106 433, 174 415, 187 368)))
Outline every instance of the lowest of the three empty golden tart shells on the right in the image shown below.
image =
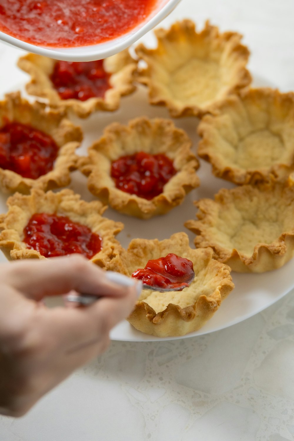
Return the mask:
POLYGON ((195 246, 239 273, 263 273, 294 256, 294 187, 281 183, 221 189, 195 202, 198 221, 185 226, 197 234, 195 246))

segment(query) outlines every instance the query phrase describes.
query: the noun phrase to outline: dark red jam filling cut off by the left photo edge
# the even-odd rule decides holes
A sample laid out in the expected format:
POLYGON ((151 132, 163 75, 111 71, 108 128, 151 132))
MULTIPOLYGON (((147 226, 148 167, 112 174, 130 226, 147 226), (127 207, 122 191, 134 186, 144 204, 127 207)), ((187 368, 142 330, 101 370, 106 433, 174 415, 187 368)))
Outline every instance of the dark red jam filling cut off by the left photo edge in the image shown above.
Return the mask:
POLYGON ((25 124, 12 122, 0 128, 0 167, 24 178, 50 172, 58 149, 51 136, 25 124))

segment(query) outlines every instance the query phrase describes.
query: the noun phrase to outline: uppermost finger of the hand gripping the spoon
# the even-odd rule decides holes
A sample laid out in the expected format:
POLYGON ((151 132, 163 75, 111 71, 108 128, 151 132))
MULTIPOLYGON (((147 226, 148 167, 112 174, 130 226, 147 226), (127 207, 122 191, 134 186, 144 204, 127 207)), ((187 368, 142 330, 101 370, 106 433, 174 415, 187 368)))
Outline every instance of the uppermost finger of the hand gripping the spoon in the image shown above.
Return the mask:
POLYGON ((107 272, 80 254, 72 254, 42 261, 12 262, 6 266, 4 277, 11 286, 35 300, 71 290, 97 296, 120 297, 126 295, 127 285, 135 285, 137 282, 121 274, 120 284, 117 284, 112 281, 111 274, 108 276, 107 272), (121 286, 122 283, 125 286, 121 286))

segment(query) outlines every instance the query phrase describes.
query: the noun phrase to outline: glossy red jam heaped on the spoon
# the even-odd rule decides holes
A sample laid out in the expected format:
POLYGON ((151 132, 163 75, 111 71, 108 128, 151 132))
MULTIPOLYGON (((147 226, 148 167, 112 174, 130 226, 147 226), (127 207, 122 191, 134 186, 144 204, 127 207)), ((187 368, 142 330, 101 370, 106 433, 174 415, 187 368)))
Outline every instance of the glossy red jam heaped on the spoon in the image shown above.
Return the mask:
POLYGON ((194 279, 193 263, 176 254, 167 254, 155 260, 149 260, 144 269, 137 269, 132 277, 154 288, 183 288, 189 286, 194 279))

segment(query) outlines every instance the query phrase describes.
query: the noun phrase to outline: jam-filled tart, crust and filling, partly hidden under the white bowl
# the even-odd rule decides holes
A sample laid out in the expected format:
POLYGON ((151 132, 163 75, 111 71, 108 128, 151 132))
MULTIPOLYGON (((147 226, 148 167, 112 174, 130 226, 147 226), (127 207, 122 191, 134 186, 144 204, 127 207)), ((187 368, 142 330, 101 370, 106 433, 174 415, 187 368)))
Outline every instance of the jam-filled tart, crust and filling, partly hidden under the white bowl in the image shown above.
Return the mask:
POLYGON ((135 90, 137 62, 128 49, 104 60, 57 61, 29 53, 18 66, 31 76, 30 95, 46 98, 51 107, 66 108, 80 118, 98 110, 114 111, 120 98, 135 90))

